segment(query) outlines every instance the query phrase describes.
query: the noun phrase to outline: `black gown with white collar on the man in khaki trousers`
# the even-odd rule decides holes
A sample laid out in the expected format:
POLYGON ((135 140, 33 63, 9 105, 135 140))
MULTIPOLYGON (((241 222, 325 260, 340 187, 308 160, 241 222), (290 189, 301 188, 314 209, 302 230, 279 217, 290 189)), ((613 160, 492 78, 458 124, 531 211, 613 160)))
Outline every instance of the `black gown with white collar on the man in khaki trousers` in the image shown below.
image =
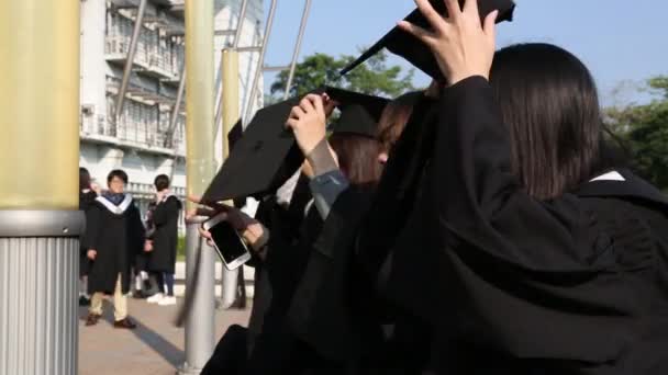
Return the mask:
POLYGON ((134 201, 125 195, 115 206, 100 196, 87 212, 87 224, 84 245, 98 252, 90 262, 88 293, 113 294, 119 273, 123 293, 130 292, 131 262, 144 245, 144 226, 134 201))

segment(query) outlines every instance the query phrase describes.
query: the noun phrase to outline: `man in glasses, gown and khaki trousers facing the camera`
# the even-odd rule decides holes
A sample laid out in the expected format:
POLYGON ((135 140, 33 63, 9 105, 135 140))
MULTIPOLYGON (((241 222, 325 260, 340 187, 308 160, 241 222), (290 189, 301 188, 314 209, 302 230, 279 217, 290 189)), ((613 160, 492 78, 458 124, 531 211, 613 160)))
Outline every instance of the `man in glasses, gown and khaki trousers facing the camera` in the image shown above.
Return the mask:
POLYGON ((113 170, 107 178, 109 191, 96 198, 87 212, 84 246, 90 259, 88 293, 92 295, 86 326, 94 326, 102 316, 102 298, 113 294, 114 328, 134 329, 127 318, 130 268, 144 245, 144 226, 138 208, 124 193, 127 174, 113 170))

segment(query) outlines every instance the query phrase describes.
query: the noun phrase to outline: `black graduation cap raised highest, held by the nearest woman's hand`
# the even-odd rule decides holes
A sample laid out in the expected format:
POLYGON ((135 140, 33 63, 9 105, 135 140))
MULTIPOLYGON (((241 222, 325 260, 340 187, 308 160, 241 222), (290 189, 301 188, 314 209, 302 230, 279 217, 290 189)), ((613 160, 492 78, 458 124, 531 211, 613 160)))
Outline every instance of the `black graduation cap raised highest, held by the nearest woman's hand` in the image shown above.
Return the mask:
MULTIPOLYGON (((447 9, 443 0, 430 0, 430 3, 438 13, 444 15, 447 13, 447 9)), ((512 21, 515 4, 512 0, 478 0, 478 8, 481 19, 485 19, 485 16, 492 11, 498 10, 499 15, 497 18, 497 22, 502 22, 512 21)), ((422 15, 419 9, 411 12, 411 14, 409 14, 404 21, 427 30, 431 29, 428 21, 424 18, 424 15, 422 15)), ((345 67, 341 71, 341 75, 343 76, 355 69, 369 57, 379 53, 382 48, 387 48, 392 54, 405 58, 409 63, 432 78, 438 81, 444 80, 441 69, 438 69, 438 64, 436 63, 436 59, 434 58, 430 48, 413 35, 397 26, 381 37, 380 41, 367 49, 367 52, 359 56, 355 61, 345 67)))

